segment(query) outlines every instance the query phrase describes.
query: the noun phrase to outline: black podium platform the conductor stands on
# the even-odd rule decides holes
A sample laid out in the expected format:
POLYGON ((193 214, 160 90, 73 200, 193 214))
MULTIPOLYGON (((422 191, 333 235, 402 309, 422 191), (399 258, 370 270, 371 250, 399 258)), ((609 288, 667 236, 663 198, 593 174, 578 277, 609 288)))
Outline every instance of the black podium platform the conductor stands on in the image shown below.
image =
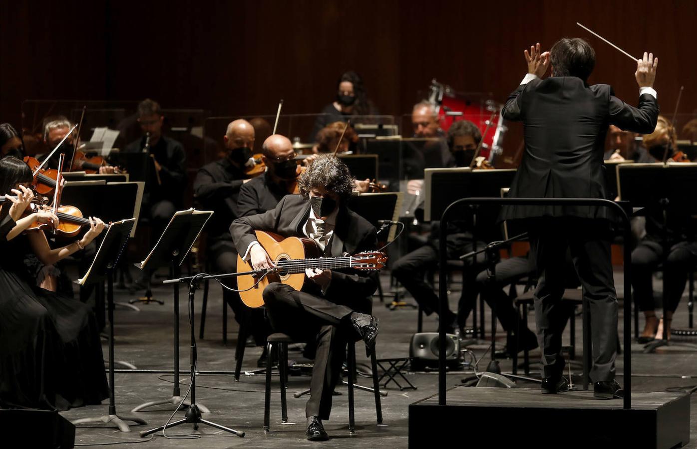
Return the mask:
POLYGON ((596 400, 592 391, 542 395, 538 388, 451 388, 444 406, 437 395, 409 405, 409 447, 429 447, 438 434, 454 435, 452 430, 468 447, 668 449, 687 444, 689 395, 634 391, 631 400, 632 409, 625 410, 622 400, 596 400))

